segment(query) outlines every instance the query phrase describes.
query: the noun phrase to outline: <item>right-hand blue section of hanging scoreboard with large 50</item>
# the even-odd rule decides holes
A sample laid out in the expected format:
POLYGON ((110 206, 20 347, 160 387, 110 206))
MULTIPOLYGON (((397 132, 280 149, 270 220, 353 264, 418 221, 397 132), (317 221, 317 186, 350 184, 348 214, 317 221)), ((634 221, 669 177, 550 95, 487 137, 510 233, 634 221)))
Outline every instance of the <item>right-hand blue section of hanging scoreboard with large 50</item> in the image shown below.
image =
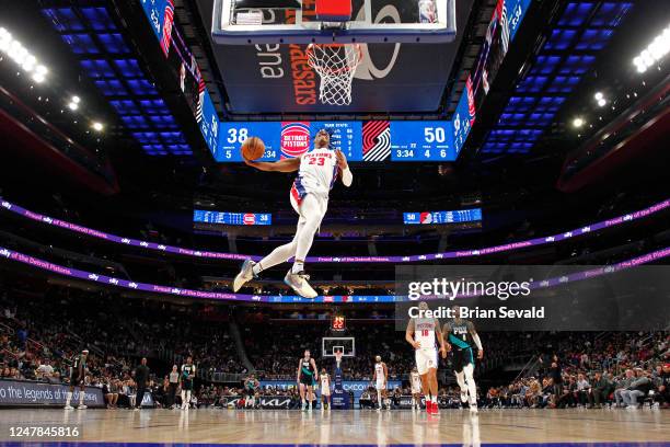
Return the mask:
POLYGON ((455 161, 451 122, 391 122, 391 160, 455 161))

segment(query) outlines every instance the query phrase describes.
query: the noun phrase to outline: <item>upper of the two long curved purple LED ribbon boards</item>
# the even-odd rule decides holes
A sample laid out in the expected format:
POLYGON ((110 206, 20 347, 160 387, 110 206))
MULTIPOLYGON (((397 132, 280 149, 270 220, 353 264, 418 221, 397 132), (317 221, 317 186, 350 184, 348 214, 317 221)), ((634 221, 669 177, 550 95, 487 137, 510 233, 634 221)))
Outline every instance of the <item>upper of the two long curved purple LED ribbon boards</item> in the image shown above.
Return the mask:
MULTIPOLYGON (((65 220, 55 219, 48 216, 33 213, 31 210, 27 210, 25 208, 22 208, 18 205, 11 204, 5 200, 0 202, 0 206, 12 213, 18 214, 19 216, 23 216, 32 220, 41 221, 41 222, 48 224, 55 227, 63 228, 66 230, 80 232, 82 234, 86 234, 93 238, 104 239, 111 242, 120 243, 125 245, 140 247, 140 248, 145 248, 149 250, 155 250, 155 251, 173 253, 173 254, 181 254, 185 256, 207 257, 207 259, 216 259, 216 260, 243 261, 243 260, 251 259, 254 261, 259 261, 261 259, 263 259, 263 256, 258 256, 258 255, 192 250, 192 249, 184 249, 181 247, 172 247, 172 245, 165 245, 165 244, 160 244, 160 243, 154 243, 154 242, 140 241, 137 239, 122 238, 119 236, 109 234, 103 231, 94 230, 94 229, 82 227, 76 224, 70 224, 65 220)), ((670 199, 666 199, 656 205, 651 205, 648 208, 644 208, 644 209, 640 209, 634 213, 629 213, 624 216, 614 217, 612 219, 603 220, 597 224, 586 225, 580 228, 563 231, 557 234, 552 234, 552 236, 546 236, 546 237, 535 238, 535 239, 529 239, 525 241, 511 242, 511 243, 506 243, 503 245, 486 247, 483 249, 460 250, 460 251, 431 253, 431 254, 414 254, 414 255, 408 255, 408 256, 309 256, 307 259, 307 262, 310 262, 310 263, 315 263, 315 262, 317 263, 396 263, 398 264, 398 263, 405 263, 405 262, 421 262, 421 261, 435 261, 435 260, 449 260, 449 259, 457 259, 457 257, 485 256, 487 254, 503 253, 503 252, 524 249, 528 247, 551 244, 551 243, 564 241, 566 239, 573 239, 578 236, 589 234, 596 231, 600 231, 604 228, 616 227, 619 225, 626 224, 633 220, 644 219, 668 207, 670 207, 670 199)))

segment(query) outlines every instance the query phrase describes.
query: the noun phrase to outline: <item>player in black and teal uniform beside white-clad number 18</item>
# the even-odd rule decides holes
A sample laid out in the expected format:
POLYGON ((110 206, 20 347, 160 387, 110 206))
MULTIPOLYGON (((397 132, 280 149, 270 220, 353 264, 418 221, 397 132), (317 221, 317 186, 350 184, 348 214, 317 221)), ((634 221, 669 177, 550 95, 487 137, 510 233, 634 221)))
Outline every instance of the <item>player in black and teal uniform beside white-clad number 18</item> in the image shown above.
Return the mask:
POLYGON ((442 334, 451 347, 452 366, 457 382, 461 388, 461 403, 470 402, 470 411, 477 412, 477 387, 474 381, 473 346, 477 348, 477 358, 484 357, 484 348, 472 321, 460 317, 459 306, 452 308, 453 319, 444 323, 442 334))

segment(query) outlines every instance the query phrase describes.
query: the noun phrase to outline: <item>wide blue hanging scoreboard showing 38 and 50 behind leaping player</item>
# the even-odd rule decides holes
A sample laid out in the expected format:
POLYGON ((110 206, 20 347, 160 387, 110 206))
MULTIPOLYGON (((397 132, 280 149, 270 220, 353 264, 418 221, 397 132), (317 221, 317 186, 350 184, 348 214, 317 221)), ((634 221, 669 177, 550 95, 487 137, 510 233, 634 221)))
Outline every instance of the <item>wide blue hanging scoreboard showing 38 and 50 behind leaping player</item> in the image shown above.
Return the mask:
MULTIPOLYGON (((391 141, 390 150, 383 159, 455 161, 451 122, 385 123, 390 127, 391 141)), ((349 161, 362 161, 363 139, 370 138, 363 135, 363 127, 367 126, 363 126, 362 122, 222 122, 219 128, 219 145, 213 154, 218 162, 241 162, 242 144, 250 137, 258 137, 265 142, 265 154, 261 161, 300 157, 313 149, 314 135, 325 128, 332 133, 332 146, 335 149, 342 150, 349 161)), ((383 141, 379 144, 382 145, 383 141)))

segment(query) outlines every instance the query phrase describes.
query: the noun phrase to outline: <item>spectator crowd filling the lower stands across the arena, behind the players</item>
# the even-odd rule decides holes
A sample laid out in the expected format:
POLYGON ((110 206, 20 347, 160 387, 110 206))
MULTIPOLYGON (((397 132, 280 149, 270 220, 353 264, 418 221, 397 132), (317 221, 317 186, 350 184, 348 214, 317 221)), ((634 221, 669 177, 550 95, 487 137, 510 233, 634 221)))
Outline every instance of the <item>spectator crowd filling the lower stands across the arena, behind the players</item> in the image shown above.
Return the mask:
MULTIPOLYGON (((311 349, 319 368, 331 371, 333 358, 322 356, 330 332, 330 310, 321 308, 246 308, 180 306, 159 300, 123 299, 55 287, 12 290, 0 295, 0 375, 3 379, 67 382, 71 357, 91 349, 88 383, 101 386, 111 406, 131 405, 139 358, 148 357, 149 386, 163 405, 175 403, 169 371, 193 355, 198 376, 198 405, 223 404, 244 397, 243 389, 211 382, 211 373, 241 380, 253 367, 258 379, 296 379, 298 359, 311 349), (239 328, 240 357, 231 328, 239 328), (246 365, 246 366, 245 366, 246 365)), ((414 353, 396 328, 390 309, 353 309, 345 336, 355 337, 356 355, 343 362, 345 379, 372 379, 373 357, 381 355, 391 380, 407 385, 414 353)), ((509 385, 480 391, 482 406, 569 408, 604 404, 634 406, 638 400, 667 405, 670 339, 656 333, 481 333, 485 358, 477 377, 529 358, 527 374, 509 385), (536 356, 538 353, 542 353, 536 356), (654 394, 649 394, 654 391, 654 394)), ((449 365, 448 363, 446 364, 449 365)), ((458 387, 449 367, 443 406, 458 405, 458 387)), ((490 380, 490 378, 488 378, 490 380)), ((394 390, 403 394, 406 389, 394 390)), ((258 390, 258 393, 277 390, 258 390)), ((177 400, 178 400, 178 393, 177 400)), ((243 400, 244 401, 244 400, 243 400)), ((194 403, 195 403, 194 402, 194 403)))

